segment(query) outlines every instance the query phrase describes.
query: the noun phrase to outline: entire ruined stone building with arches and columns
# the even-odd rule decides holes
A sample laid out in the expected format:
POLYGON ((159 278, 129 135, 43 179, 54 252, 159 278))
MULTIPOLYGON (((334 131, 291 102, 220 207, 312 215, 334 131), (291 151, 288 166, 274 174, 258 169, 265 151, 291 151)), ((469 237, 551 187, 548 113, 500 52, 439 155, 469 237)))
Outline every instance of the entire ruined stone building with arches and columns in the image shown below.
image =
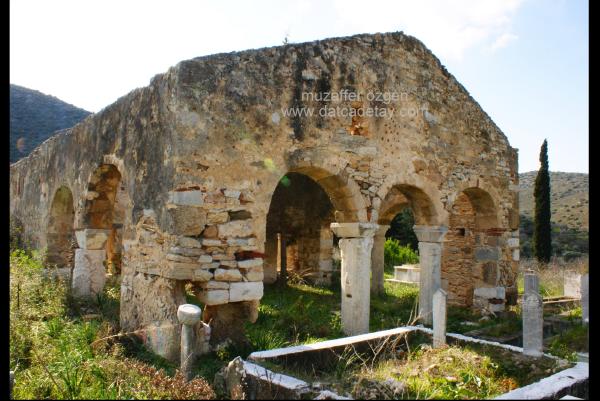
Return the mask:
POLYGON ((425 322, 440 286, 474 308, 516 295, 517 151, 402 33, 182 61, 48 139, 10 179, 11 215, 49 262, 73 268, 75 294, 120 274, 122 330, 147 329, 172 359, 186 284, 211 343, 256 319, 278 234, 288 269, 321 284, 341 276, 344 330, 368 331, 385 231, 406 207, 425 322), (348 93, 359 98, 309 96, 348 93))

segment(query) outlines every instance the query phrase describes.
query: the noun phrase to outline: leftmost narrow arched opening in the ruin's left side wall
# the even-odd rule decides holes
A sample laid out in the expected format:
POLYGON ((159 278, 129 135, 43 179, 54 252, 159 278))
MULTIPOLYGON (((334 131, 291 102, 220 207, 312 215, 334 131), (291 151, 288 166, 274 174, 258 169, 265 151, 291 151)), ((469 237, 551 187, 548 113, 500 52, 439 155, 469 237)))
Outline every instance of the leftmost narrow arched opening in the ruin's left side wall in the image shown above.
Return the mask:
POLYGON ((72 267, 75 248, 73 194, 67 186, 54 193, 47 225, 46 262, 59 268, 72 267))

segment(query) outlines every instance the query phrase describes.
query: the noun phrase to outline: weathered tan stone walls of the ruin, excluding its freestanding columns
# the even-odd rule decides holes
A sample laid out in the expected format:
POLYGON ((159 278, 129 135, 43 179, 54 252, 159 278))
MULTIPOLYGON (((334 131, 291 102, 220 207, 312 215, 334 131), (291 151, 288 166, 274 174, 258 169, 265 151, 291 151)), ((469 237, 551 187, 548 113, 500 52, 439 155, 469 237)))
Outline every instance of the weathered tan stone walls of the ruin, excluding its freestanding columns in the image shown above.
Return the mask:
MULTIPOLYGON (((156 76, 11 165, 11 214, 35 246, 47 244, 61 186, 73 194, 74 229, 91 228, 86 202, 102 165, 118 170, 126 199, 117 213, 115 197, 108 242, 122 255, 121 324, 128 330, 174 324, 186 284, 214 327, 255 319, 263 279, 273 277, 263 271, 273 249, 268 212, 289 173, 322 188, 336 222, 384 224, 390 211, 409 206, 417 224, 448 226, 461 193, 475 203, 485 193, 493 210, 476 210, 475 220, 493 217, 495 224, 474 231, 482 248, 474 257, 495 261, 498 286, 514 285, 517 152, 439 60, 402 33, 211 55, 156 76), (303 97, 343 90, 362 100, 303 97), (402 96, 385 102, 369 93, 402 96), (323 106, 394 114, 323 116, 323 106), (315 114, 286 115, 290 107, 315 114)), ((326 249, 324 224, 304 235, 311 239, 301 241, 299 255, 326 249)), ((457 276, 454 268, 446 266, 448 278, 457 276)), ((482 274, 474 274, 475 289, 482 274)), ((456 302, 468 303, 468 294, 455 293, 456 302)), ((218 332, 215 338, 228 336, 218 332)))

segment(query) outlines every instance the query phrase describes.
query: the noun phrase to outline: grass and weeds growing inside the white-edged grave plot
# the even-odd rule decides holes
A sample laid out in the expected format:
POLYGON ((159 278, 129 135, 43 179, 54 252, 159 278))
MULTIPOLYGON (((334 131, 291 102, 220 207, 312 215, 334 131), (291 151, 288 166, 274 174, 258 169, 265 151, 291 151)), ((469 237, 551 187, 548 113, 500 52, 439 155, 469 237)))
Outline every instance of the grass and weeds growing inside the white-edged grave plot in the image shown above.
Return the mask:
POLYGON ((530 384, 564 364, 532 360, 487 345, 463 343, 431 348, 431 338, 411 333, 371 344, 348 346, 337 358, 302 363, 293 358, 264 365, 307 382, 327 383, 355 399, 485 399, 530 384))

